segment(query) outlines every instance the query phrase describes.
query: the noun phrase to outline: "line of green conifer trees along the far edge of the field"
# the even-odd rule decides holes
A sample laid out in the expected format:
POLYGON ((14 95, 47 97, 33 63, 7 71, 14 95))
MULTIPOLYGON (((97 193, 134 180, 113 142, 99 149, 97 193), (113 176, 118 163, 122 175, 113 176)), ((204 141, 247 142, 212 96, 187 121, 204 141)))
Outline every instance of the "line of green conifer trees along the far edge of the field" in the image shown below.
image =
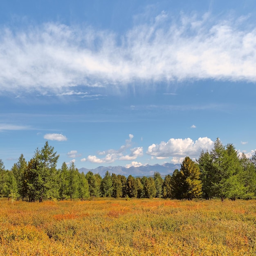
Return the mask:
POLYGON ((238 154, 233 144, 216 139, 213 149, 202 151, 196 161, 185 157, 180 170, 164 179, 110 174, 102 178, 91 171, 80 173, 72 162, 57 169, 59 155, 48 141, 27 163, 21 154, 11 170, 0 159, 0 196, 29 202, 45 199, 85 200, 94 197, 127 198, 256 198, 256 152, 251 159, 238 154))

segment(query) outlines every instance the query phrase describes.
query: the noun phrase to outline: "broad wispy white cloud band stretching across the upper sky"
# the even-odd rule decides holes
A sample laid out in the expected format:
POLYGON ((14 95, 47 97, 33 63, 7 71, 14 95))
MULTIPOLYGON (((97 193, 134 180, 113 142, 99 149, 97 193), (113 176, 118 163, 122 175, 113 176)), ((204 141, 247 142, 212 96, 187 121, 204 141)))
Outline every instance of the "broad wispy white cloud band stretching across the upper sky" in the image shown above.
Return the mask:
POLYGON ((209 13, 176 20, 161 13, 121 35, 56 23, 2 27, 0 92, 74 94, 77 85, 122 87, 134 81, 256 81, 254 24, 231 16, 215 20, 209 13))

